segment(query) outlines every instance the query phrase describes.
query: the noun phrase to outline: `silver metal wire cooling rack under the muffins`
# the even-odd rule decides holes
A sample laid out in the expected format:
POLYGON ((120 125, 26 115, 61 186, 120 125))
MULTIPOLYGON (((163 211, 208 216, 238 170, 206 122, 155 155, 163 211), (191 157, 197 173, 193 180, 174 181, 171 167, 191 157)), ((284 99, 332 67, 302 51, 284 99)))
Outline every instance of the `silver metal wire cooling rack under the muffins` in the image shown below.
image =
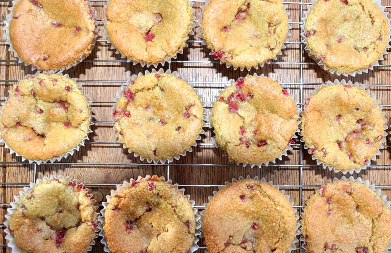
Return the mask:
MULTIPOLYGON (((90 2, 106 2, 107 0, 89 0, 90 2)), ((198 4, 204 4, 205 3, 205 0, 191 0, 192 2, 194 3, 198 3, 198 4)), ((10 0, 0 0, 0 3, 8 3, 10 4, 11 1, 10 0)), ((301 20, 302 20, 302 15, 303 15, 303 10, 304 8, 306 8, 307 5, 310 5, 311 3, 308 3, 308 2, 303 2, 303 0, 298 0, 297 2, 284 2, 285 5, 288 5, 288 6, 295 6, 295 7, 298 7, 298 11, 300 12, 299 14, 299 20, 295 20, 295 21, 292 21, 290 22, 290 24, 292 26, 294 26, 295 28, 299 28, 299 26, 302 24, 301 20)), ((199 6, 199 5, 197 5, 199 6)), ((386 6, 387 8, 391 8, 391 6, 386 6)), ((5 21, 5 17, 4 19, 0 19, 0 25, 3 24, 3 22, 5 21)), ((100 22, 102 22, 102 19, 99 20, 100 22)), ((196 23, 199 23, 199 20, 195 20, 196 23)), ((300 28, 299 28, 300 29, 300 28)), ((300 36, 299 36, 300 37, 300 36)), ((193 45, 200 45, 202 42, 202 40, 189 40, 188 41, 188 44, 191 46, 193 45)), ((1 43, 5 43, 5 39, 0 39, 0 44, 1 43)), ((97 45, 96 46, 99 46, 100 44, 99 43, 106 43, 106 39, 98 39, 97 40, 97 45)), ((304 46, 303 46, 303 43, 300 41, 300 38, 297 39, 297 41, 291 41, 291 42, 287 42, 288 45, 299 45, 299 50, 301 52, 302 55, 305 54, 304 52, 304 46)), ((4 64, 10 64, 10 63, 15 63, 15 62, 18 62, 16 59, 0 59, 0 63, 4 63, 4 64)), ((90 63, 125 63, 126 64, 126 60, 123 60, 123 59, 114 59, 114 60, 84 60, 83 62, 90 62, 90 63)), ((219 62, 217 61, 211 61, 211 60, 202 60, 202 61, 192 61, 192 60, 172 60, 172 63, 191 63, 191 64, 195 64, 196 66, 203 66, 205 64, 211 64, 212 66, 215 66, 216 64, 219 64, 219 62)), ((294 86, 294 87, 297 87, 298 90, 299 90, 299 98, 297 99, 299 101, 298 103, 298 106, 301 106, 303 105, 304 103, 304 88, 306 86, 313 86, 313 85, 322 85, 322 83, 307 83, 307 82, 304 82, 303 81, 303 72, 304 72, 304 69, 303 67, 304 66, 308 66, 308 65, 317 65, 315 62, 311 61, 311 62, 304 62, 304 58, 303 57, 300 57, 300 60, 299 61, 296 61, 296 62, 271 62, 272 65, 294 65, 294 66, 298 66, 299 67, 299 81, 298 82, 282 82, 281 84, 283 85, 290 85, 290 86, 294 86)), ((391 67, 391 64, 380 64, 378 66, 375 66, 375 68, 379 68, 379 67, 382 67, 382 68, 390 68, 391 67)), ((168 66, 169 69, 171 69, 171 64, 169 64, 168 66)), ((16 79, 0 79, 0 85, 6 85, 6 84, 12 84, 12 83, 16 83, 18 80, 16 79)), ((78 80, 79 83, 116 83, 116 84, 119 84, 119 85, 123 85, 126 83, 126 80, 78 80)), ((206 82, 206 81, 199 81, 199 80, 190 80, 189 81, 190 83, 194 84, 196 88, 200 88, 200 89, 208 89, 210 87, 214 87, 216 88, 216 86, 222 88, 222 85, 226 84, 227 82, 206 82), (206 86, 205 86, 206 85, 206 86)), ((388 87, 389 84, 365 84, 366 86, 370 86, 370 87, 388 87)), ((3 102, 4 100, 0 100, 0 102, 3 102)), ((112 105, 114 104, 114 101, 101 101, 101 100, 94 100, 92 101, 94 105, 98 105, 98 104, 108 104, 108 105, 112 105)), ((207 108, 211 108, 212 104, 211 103, 207 103, 206 104, 207 108)), ((388 108, 388 107, 391 107, 391 104, 382 104, 383 107, 385 108, 388 108)), ((107 125, 107 124, 114 124, 113 121, 95 121, 94 122, 96 124, 97 127, 99 127, 100 125, 107 125)), ((87 141, 86 142, 87 145, 121 145, 120 142, 118 141, 87 141)), ((3 145, 0 144, 0 145, 3 145)), ((207 143, 199 143, 198 144, 201 148, 210 148, 210 147, 213 147, 213 143, 212 142, 207 142, 207 143)), ((303 184, 303 170, 304 169, 321 169, 321 166, 319 165, 316 165, 316 164, 304 164, 304 147, 302 144, 300 143, 296 143, 296 144, 293 144, 294 147, 296 149, 298 149, 299 151, 299 163, 296 163, 296 164, 271 164, 269 165, 269 167, 279 167, 279 168, 282 168, 282 169, 286 169, 286 168, 298 168, 299 170, 299 178, 298 178, 298 184, 286 184, 286 185, 280 185, 280 188, 281 189, 295 189, 295 190, 298 190, 299 191, 299 203, 298 205, 295 205, 294 207, 295 208, 298 208, 299 212, 301 213, 303 211, 303 205, 304 205, 304 199, 303 199, 303 191, 305 189, 314 189, 314 188, 317 188, 319 187, 319 185, 304 185, 303 184)), ((391 145, 385 145, 385 148, 389 149, 391 147, 391 145)), ((4 149, 4 152, 7 152, 7 150, 4 149)), ((20 160, 19 161, 0 161, 0 165, 19 165, 19 164, 22 164, 22 165, 28 165, 29 163, 28 162, 21 162, 20 160)), ((67 162, 67 161, 64 161, 64 162, 56 162, 56 164, 64 164, 64 165, 98 165, 98 166, 104 166, 104 165, 112 165, 112 166, 127 166, 127 165, 134 165, 134 166, 138 166, 138 165, 146 165, 146 163, 112 163, 112 162, 109 162, 109 163, 106 163, 106 162, 67 162)), ((33 167, 33 182, 36 182, 37 180, 37 169, 38 169, 38 166, 40 165, 37 165, 37 164, 33 164, 32 167, 33 167)), ((170 179, 170 168, 174 167, 174 166, 193 166, 193 167, 205 167, 205 166, 208 166, 208 167, 224 167, 224 166, 237 166, 235 164, 198 164, 198 163, 186 163, 186 164, 183 164, 183 163, 174 163, 174 164, 157 164, 157 165, 154 165, 154 166, 158 166, 158 167, 163 167, 165 168, 165 171, 166 171, 166 179, 170 179)), ((369 165, 368 167, 370 167, 371 169, 376 169, 376 168, 381 168, 381 169, 390 169, 391 168, 391 164, 376 164, 376 165, 369 165)), ((0 187, 10 187, 10 186, 19 186, 19 187, 23 187, 23 186, 27 186, 29 184, 29 182, 4 182, 4 181, 0 181, 0 187)), ((114 187, 115 184, 94 184, 94 183, 91 183, 91 184, 85 184, 86 186, 89 186, 89 187, 99 187, 99 186, 107 186, 107 187, 114 187)), ((219 185, 213 185, 213 184, 182 184, 182 185, 179 185, 179 187, 218 187, 219 185)), ((382 189, 391 189, 391 184, 390 185, 377 185, 376 187, 379 187, 379 188, 382 188, 382 189)), ((8 202, 4 202, 4 203, 0 203, 0 208, 8 208, 10 205, 8 202)), ((199 210, 202 210, 204 209, 204 206, 203 205, 197 205, 195 206, 196 208, 198 208, 199 210)), ((0 224, 0 233, 4 233, 4 224, 0 224)), ((3 236, 5 237, 5 236, 3 236)), ((5 239, 4 239, 4 243, 5 243, 5 239)), ((4 250, 3 252, 5 253, 5 248, 7 247, 6 244, 0 244, 0 252, 2 252, 2 249, 4 250)), ((205 247, 204 245, 199 245, 200 246, 200 249, 201 250, 205 250, 205 247)), ((102 246, 94 246, 95 248, 102 248, 102 246)), ((304 252, 304 249, 302 248, 302 245, 301 243, 299 243, 297 245, 297 250, 300 251, 300 253, 303 251, 304 252)), ((103 251, 102 251, 103 252, 103 251)))

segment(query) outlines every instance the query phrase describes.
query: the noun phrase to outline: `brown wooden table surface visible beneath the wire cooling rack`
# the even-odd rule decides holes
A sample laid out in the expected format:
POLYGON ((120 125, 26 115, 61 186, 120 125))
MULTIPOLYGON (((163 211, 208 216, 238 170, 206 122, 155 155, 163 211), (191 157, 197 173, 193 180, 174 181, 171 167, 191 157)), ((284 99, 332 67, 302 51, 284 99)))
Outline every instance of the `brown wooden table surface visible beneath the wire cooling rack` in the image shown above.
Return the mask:
MULTIPOLYGON (((374 71, 358 75, 355 78, 331 75, 314 65, 314 61, 307 56, 303 45, 300 43, 301 12, 303 13, 308 7, 308 3, 305 1, 291 0, 285 3, 292 20, 291 43, 287 45, 287 49, 283 50, 283 55, 279 56, 277 61, 274 61, 271 65, 266 65, 257 71, 248 72, 239 69, 234 71, 233 68, 227 69, 225 65, 210 63, 213 59, 209 57, 209 50, 206 46, 200 43, 201 39, 198 36, 199 22, 196 21, 196 35, 190 38, 192 41, 189 42, 189 48, 185 49, 184 54, 179 55, 171 64, 166 63, 164 70, 177 71, 200 88, 204 94, 204 102, 209 112, 214 96, 218 95, 224 83, 229 79, 236 79, 248 73, 257 73, 277 78, 280 83, 289 83, 287 87, 290 88, 291 93, 299 102, 303 102, 314 91, 314 87, 329 80, 345 79, 364 83, 375 94, 380 104, 384 105, 384 112, 387 120, 389 120, 391 88, 388 84, 390 84, 391 78, 391 65, 388 64, 391 64, 391 57, 386 56, 385 60, 380 62, 385 66, 377 66, 374 71), (373 86, 374 84, 375 86, 373 86)), ((199 20, 198 14, 204 0, 193 0, 193 2, 197 20, 199 20)), ((103 6, 106 1, 93 0, 90 3, 96 9, 98 18, 103 19, 105 10, 103 6)), ((391 5, 391 0, 383 0, 382 4, 391 5)), ((0 0, 1 28, 4 27, 3 19, 6 19, 9 6, 11 6, 10 1, 0 0)), ((387 8, 387 10, 390 10, 390 8, 387 8)), ((99 27, 102 28, 101 21, 99 27)), ((2 29, 0 35, 0 93, 1 99, 3 99, 8 95, 9 87, 16 83, 16 80, 34 72, 31 71, 30 67, 15 62, 16 58, 8 51, 8 46, 5 44, 2 29)), ((121 60, 120 56, 115 54, 115 50, 110 49, 110 45, 106 43, 106 38, 101 30, 99 35, 91 56, 76 67, 64 72, 68 73, 71 78, 76 78, 83 85, 83 92, 89 94, 90 99, 94 101, 94 120, 96 124, 93 127, 94 133, 90 135, 90 141, 94 143, 87 143, 79 152, 66 160, 62 160, 62 164, 41 165, 21 163, 22 159, 20 157, 16 158, 14 155, 10 155, 9 151, 4 149, 4 145, 0 144, 1 253, 11 252, 10 249, 5 247, 3 216, 9 207, 8 203, 13 201, 13 196, 18 195, 19 190, 23 187, 21 184, 12 185, 12 183, 27 184, 44 176, 64 175, 78 179, 79 182, 91 184, 88 186, 89 188, 100 191, 105 196, 109 194, 112 187, 104 184, 119 184, 124 180, 129 181, 130 178, 137 178, 139 175, 156 174, 165 176, 166 179, 171 179, 174 183, 183 186, 185 192, 191 195, 191 199, 195 200, 199 210, 202 210, 203 203, 207 201, 207 197, 212 195, 213 191, 217 190, 218 185, 223 185, 225 181, 231 181, 232 178, 250 175, 282 185, 282 189, 286 190, 294 201, 294 205, 299 207, 300 210, 305 199, 314 192, 316 186, 325 183, 327 180, 332 180, 334 177, 341 178, 343 176, 342 173, 330 172, 317 166, 307 151, 299 145, 298 141, 294 149, 288 153, 288 156, 284 157, 277 165, 262 168, 237 166, 223 157, 221 150, 211 145, 210 137, 213 134, 208 128, 205 128, 206 134, 200 141, 202 144, 198 145, 192 153, 182 156, 179 161, 175 160, 172 164, 147 164, 146 160, 140 161, 138 158, 134 158, 115 139, 113 123, 111 122, 113 120, 111 116, 113 103, 102 101, 113 101, 120 86, 124 85, 131 75, 144 72, 147 68, 142 68, 140 65, 133 66, 132 63, 126 63, 126 61, 118 62, 118 60, 121 60), (100 184, 100 186, 94 184, 100 184)), ((148 70, 151 69, 148 68, 148 70)), ((390 161, 390 146, 386 146, 376 162, 373 163, 374 166, 352 176, 369 180, 369 183, 381 187, 383 193, 387 194, 390 200, 391 167, 388 167, 391 166, 390 161)), ((97 241, 100 241, 100 238, 97 241)), ((205 246, 202 240, 199 246, 201 247, 199 252, 203 252, 205 246)), ((297 247, 300 247, 300 245, 298 244, 297 247)), ((100 242, 97 242, 97 246, 92 252, 103 252, 100 242)))

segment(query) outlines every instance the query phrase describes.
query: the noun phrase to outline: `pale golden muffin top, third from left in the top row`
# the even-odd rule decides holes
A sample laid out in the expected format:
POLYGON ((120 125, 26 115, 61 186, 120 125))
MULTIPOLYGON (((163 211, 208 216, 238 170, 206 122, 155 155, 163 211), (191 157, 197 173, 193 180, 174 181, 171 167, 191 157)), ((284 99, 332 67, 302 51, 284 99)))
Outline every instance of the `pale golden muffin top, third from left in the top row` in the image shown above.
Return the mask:
POLYGON ((215 59, 235 68, 251 68, 280 52, 288 34, 288 16, 281 0, 210 0, 201 30, 215 59))

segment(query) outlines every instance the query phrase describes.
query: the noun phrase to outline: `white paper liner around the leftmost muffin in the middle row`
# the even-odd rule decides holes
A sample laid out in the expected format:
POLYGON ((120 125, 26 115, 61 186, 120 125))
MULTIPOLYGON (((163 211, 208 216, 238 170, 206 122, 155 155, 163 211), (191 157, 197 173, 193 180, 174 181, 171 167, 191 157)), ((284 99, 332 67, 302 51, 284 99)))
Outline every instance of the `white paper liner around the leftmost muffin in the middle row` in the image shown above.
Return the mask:
MULTIPOLYGON (((38 74, 40 74, 40 72, 37 71, 37 73, 35 73, 34 75, 25 75, 23 79, 27 79, 28 77, 30 76, 37 76, 38 74)), ((63 75, 63 73, 61 72, 57 72, 57 73, 54 73, 54 74, 58 74, 58 75, 61 75, 61 76, 64 76, 66 78, 69 78, 69 75, 68 74, 65 74, 63 75)), ((74 82, 77 83, 76 81, 76 78, 69 78, 71 80, 73 80, 74 82)), ((18 83, 19 83, 20 80, 18 80, 18 83)), ((17 84, 14 84, 14 86, 18 86, 18 83, 17 84)), ((82 85, 80 83, 77 83, 78 87, 79 87, 79 90, 82 91, 82 85)), ((10 93, 10 91, 8 90, 8 93, 10 93)), ((83 93, 82 93, 83 94, 83 93)), ((83 94, 84 95, 84 94, 83 94)), ((85 142, 86 140, 89 140, 89 133, 92 133, 92 125, 95 125, 93 122, 92 122, 92 118, 93 118, 93 115, 92 115, 92 111, 93 111, 93 108, 91 107, 92 106, 92 102, 88 99, 89 95, 86 94, 84 95, 86 98, 87 98, 87 102, 88 102, 88 108, 89 108, 89 126, 88 126, 88 131, 87 131, 87 134, 86 134, 86 137, 84 137, 82 139, 82 141, 76 145, 76 147, 72 148, 71 150, 69 150, 68 152, 66 152, 64 155, 61 155, 61 156, 58 156, 58 157, 53 157, 51 159, 47 159, 47 160, 30 160, 30 159, 26 159, 24 158, 22 155, 20 155, 18 152, 16 152, 15 150, 13 150, 12 148, 10 148, 7 143, 1 138, 1 131, 0 131, 0 142, 4 143, 4 148, 6 149, 9 149, 9 153, 12 155, 12 154, 15 154, 15 156, 22 156, 22 162, 24 162, 25 160, 27 160, 30 164, 31 163, 36 163, 38 165, 40 165, 41 163, 54 163, 55 161, 60 161, 61 159, 66 159, 69 155, 73 156, 73 154, 75 153, 75 151, 79 151, 80 150, 80 147, 84 147, 85 145, 85 142)), ((8 101, 8 97, 5 99, 5 102, 1 103, 1 106, 2 108, 4 107, 4 104, 8 101)), ((3 113, 3 110, 0 110, 0 120, 1 120, 1 117, 2 117, 2 113, 3 113)))

